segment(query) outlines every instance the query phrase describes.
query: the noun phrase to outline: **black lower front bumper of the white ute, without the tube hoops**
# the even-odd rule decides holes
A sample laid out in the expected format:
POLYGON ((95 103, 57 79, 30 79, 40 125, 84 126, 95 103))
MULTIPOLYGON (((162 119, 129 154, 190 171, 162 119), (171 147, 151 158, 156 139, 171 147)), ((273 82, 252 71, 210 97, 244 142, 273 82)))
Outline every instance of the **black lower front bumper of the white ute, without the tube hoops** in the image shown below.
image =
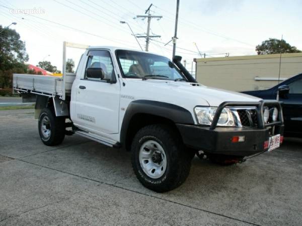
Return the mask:
MULTIPOLYGON (((264 143, 269 140, 271 128, 222 128, 211 130, 210 127, 177 124, 178 130, 186 146, 205 152, 250 156, 267 151, 264 143), (244 142, 233 143, 235 136, 245 136, 244 142)), ((274 126, 274 135, 283 136, 284 126, 274 126)))

